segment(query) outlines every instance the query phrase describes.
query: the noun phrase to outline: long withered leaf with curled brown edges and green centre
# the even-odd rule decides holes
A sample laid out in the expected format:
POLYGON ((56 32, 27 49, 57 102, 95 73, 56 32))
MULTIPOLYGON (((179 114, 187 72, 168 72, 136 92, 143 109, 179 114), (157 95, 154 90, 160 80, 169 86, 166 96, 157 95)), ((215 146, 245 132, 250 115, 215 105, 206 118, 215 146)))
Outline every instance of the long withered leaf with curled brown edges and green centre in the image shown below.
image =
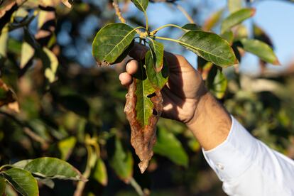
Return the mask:
POLYGON ((147 79, 143 61, 139 64, 140 69, 126 94, 124 112, 131 126, 131 145, 141 160, 138 166, 143 173, 153 156, 156 124, 163 111, 163 97, 160 90, 154 89, 147 79))

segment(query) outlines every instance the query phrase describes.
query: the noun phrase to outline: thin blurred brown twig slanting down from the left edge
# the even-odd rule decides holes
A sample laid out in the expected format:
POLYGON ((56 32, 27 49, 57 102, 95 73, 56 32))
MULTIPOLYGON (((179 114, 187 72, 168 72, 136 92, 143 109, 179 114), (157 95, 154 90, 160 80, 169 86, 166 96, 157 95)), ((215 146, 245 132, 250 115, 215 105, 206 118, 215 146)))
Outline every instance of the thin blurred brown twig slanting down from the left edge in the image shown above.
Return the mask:
POLYGON ((38 143, 40 143, 42 145, 42 147, 44 149, 48 148, 49 143, 48 141, 46 141, 44 138, 41 138, 40 136, 38 136, 38 134, 36 134, 32 127, 29 126, 28 124, 16 119, 15 116, 12 116, 11 114, 8 114, 4 111, 0 111, 0 114, 9 117, 9 119, 13 120, 16 122, 16 124, 18 124, 19 126, 23 127, 23 132, 28 135, 30 138, 33 139, 33 141, 37 141, 38 143))

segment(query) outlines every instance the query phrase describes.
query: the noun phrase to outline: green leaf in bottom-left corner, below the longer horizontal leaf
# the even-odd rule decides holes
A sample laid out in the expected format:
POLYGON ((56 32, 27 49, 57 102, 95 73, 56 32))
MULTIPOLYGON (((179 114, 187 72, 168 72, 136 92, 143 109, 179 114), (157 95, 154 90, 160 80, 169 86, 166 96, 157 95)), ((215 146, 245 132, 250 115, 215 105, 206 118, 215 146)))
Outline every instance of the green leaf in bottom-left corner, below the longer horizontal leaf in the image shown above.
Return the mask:
POLYGON ((33 175, 26 170, 11 168, 3 172, 4 178, 13 188, 24 196, 38 196, 38 183, 33 175))

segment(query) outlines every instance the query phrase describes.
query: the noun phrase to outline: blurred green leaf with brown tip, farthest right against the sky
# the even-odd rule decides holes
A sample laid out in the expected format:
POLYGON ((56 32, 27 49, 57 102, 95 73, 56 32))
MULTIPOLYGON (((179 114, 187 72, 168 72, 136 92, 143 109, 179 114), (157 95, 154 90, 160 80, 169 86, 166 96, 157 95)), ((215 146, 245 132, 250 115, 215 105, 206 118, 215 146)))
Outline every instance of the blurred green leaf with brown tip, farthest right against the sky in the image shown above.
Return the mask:
POLYGON ((254 40, 254 39, 241 39, 242 48, 249 53, 252 53, 261 60, 269 62, 273 65, 280 65, 278 58, 276 57, 275 53, 273 53, 273 49, 266 43, 262 42, 261 40, 254 40))

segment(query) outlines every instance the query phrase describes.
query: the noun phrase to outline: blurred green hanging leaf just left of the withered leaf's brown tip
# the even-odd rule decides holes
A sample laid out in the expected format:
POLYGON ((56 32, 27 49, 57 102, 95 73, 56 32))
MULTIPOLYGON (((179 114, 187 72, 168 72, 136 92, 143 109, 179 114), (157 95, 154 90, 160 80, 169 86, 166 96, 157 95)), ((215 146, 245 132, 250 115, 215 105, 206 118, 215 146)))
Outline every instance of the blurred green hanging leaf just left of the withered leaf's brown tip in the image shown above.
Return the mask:
POLYGON ((133 175, 134 160, 131 156, 131 152, 124 151, 119 138, 115 138, 114 155, 110 159, 110 165, 121 180, 124 180, 126 183, 131 180, 133 175))

